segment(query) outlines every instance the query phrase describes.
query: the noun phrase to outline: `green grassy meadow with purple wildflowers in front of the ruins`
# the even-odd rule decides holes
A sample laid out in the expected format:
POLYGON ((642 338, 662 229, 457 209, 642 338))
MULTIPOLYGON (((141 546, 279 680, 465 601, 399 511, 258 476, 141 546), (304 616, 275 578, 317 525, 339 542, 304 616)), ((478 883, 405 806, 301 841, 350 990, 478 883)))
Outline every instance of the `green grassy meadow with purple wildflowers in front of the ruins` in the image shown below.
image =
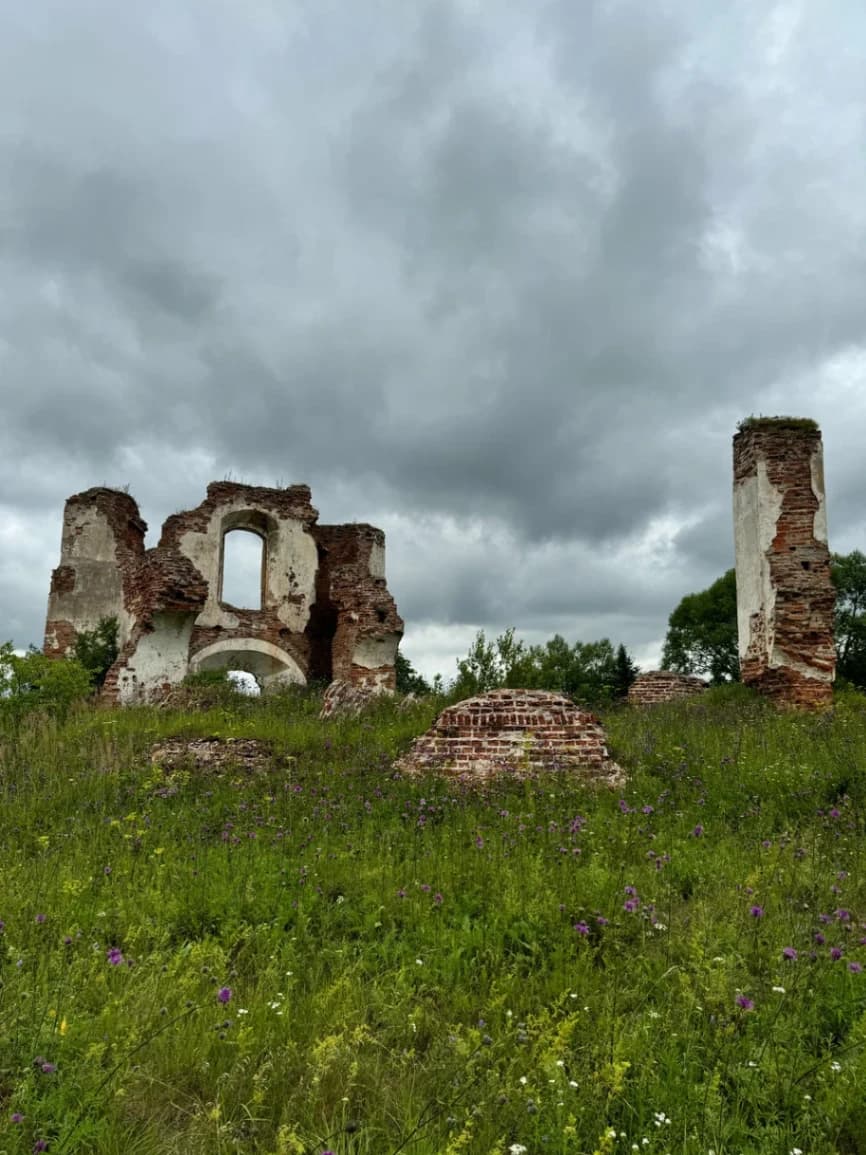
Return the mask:
POLYGON ((863 699, 612 711, 620 795, 403 780, 435 705, 318 707, 0 739, 0 1150, 866 1152, 863 699))

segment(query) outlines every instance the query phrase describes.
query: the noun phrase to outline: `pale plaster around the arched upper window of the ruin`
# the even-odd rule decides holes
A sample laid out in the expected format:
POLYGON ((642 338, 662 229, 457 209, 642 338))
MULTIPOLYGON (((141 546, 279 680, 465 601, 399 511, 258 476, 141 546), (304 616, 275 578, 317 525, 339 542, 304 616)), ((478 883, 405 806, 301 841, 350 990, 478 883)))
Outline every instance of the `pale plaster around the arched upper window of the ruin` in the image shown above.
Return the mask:
MULTIPOLYGON (((219 566, 223 526, 231 529, 246 527, 242 514, 256 512, 245 501, 219 506, 203 532, 187 532, 180 538, 180 551, 186 554, 208 582, 208 599, 199 614, 200 626, 236 628, 238 619, 219 604, 219 566)), ((268 517, 273 521, 271 514, 268 517)), ((279 620, 292 632, 301 633, 309 620, 309 608, 315 599, 315 574, 319 554, 315 542, 303 522, 294 519, 277 521, 276 529, 266 535, 266 582, 262 608, 276 609, 279 620), (299 597, 298 602, 289 601, 299 597)), ((240 669, 240 668, 239 668, 240 669)))

